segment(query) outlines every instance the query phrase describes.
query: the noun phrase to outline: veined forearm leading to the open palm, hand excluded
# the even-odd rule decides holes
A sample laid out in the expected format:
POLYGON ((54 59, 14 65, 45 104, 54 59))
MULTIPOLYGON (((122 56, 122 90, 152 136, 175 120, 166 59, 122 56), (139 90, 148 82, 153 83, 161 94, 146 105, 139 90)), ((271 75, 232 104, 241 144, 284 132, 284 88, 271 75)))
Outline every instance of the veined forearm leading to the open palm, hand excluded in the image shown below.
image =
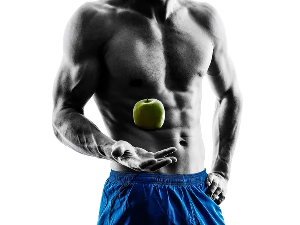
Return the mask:
POLYGON ((116 141, 103 134, 84 115, 71 108, 53 115, 54 133, 63 144, 81 154, 113 160, 111 146, 116 141))

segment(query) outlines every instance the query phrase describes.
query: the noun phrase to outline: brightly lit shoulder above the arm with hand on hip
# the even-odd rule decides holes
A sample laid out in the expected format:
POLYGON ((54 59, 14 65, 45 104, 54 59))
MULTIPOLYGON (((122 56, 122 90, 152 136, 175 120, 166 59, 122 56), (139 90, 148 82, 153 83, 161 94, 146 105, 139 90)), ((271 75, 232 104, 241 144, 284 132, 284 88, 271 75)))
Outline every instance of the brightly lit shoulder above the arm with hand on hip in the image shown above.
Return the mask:
POLYGON ((213 38, 224 38, 224 25, 218 11, 209 3, 188 0, 187 8, 195 20, 201 24, 213 38))

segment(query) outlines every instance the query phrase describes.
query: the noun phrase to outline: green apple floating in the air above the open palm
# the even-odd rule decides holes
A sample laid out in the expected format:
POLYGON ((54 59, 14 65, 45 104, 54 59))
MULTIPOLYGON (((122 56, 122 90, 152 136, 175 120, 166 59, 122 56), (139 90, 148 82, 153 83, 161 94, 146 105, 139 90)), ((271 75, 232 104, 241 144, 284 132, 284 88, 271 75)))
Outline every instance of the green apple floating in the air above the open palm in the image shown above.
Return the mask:
POLYGON ((143 130, 159 129, 165 119, 162 102, 155 98, 138 101, 133 108, 133 119, 135 125, 143 130))

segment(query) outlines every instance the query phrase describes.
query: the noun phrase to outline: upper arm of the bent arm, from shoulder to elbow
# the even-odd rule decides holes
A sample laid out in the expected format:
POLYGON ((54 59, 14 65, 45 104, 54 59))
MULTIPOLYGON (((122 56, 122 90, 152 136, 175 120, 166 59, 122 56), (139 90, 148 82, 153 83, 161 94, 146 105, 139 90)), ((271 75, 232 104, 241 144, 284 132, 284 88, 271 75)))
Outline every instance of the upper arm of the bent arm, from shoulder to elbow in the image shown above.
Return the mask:
POLYGON ((58 70, 54 88, 54 111, 74 108, 83 113, 87 101, 96 91, 100 79, 100 43, 91 39, 90 27, 94 12, 81 7, 68 22, 63 40, 63 59, 58 70))

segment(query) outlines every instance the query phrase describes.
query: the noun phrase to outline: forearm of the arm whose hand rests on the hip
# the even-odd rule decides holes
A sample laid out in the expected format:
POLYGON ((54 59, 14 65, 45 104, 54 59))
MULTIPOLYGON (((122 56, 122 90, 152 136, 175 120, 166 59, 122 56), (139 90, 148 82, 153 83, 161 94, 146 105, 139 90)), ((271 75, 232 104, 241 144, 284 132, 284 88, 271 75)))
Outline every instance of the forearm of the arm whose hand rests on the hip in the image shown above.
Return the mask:
POLYGON ((212 172, 222 175, 227 181, 235 150, 241 121, 241 95, 227 96, 216 101, 213 118, 212 172))

